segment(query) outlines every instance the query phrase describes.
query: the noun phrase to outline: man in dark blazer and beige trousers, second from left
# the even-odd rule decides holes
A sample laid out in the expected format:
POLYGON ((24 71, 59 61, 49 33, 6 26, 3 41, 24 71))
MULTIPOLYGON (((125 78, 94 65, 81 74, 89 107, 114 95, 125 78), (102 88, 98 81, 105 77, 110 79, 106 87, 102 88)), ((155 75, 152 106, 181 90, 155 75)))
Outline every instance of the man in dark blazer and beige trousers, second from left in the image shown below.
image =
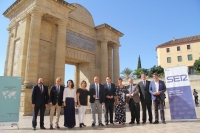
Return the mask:
POLYGON ((53 116, 56 109, 56 128, 59 127, 59 118, 61 106, 63 104, 64 86, 61 85, 61 78, 56 79, 56 84, 51 87, 50 91, 50 129, 53 129, 53 116))

